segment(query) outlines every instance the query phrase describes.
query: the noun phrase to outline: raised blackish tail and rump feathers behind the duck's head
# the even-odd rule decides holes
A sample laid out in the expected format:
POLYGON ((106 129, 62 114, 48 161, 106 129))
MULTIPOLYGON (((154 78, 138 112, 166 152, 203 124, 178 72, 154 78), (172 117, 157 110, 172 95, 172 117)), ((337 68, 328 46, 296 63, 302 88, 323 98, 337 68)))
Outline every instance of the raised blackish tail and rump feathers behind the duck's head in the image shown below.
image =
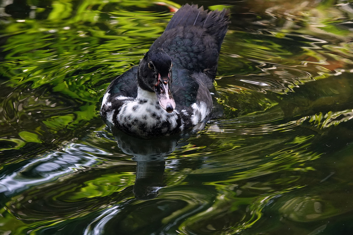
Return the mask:
POLYGON ((161 48, 172 57, 174 65, 192 73, 203 72, 213 80, 228 23, 227 10, 208 12, 186 4, 174 14, 150 49, 161 48))

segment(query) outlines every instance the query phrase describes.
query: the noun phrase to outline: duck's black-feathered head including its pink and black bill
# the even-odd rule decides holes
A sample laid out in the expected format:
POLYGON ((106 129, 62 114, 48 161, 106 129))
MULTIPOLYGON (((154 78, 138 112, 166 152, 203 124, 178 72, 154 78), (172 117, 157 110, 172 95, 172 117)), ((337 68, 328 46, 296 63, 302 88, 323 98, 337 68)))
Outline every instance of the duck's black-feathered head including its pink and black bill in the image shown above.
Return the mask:
POLYGON ((137 85, 145 91, 155 92, 159 104, 168 113, 175 109, 170 92, 172 80, 172 58, 161 49, 149 50, 138 64, 137 85))

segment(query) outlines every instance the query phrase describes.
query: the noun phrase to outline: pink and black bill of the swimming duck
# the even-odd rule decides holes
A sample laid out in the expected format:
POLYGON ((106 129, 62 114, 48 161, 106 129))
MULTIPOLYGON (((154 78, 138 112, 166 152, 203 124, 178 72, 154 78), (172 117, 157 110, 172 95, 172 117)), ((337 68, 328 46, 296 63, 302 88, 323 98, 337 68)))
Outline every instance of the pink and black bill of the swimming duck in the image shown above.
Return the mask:
POLYGON ((175 101, 173 99, 173 95, 170 92, 170 84, 169 84, 169 73, 167 76, 161 76, 158 73, 158 81, 155 86, 155 92, 161 107, 166 110, 168 113, 173 112, 175 109, 175 101))

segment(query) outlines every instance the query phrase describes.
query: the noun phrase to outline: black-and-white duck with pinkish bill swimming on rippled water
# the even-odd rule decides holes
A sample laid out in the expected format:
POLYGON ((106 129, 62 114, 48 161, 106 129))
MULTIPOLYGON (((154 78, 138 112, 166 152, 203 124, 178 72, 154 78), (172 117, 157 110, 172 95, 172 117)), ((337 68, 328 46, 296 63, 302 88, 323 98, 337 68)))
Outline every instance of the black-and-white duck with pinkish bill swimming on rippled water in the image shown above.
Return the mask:
POLYGON ((161 138, 208 122, 229 22, 226 9, 180 7, 138 66, 110 83, 101 117, 138 138, 161 138))

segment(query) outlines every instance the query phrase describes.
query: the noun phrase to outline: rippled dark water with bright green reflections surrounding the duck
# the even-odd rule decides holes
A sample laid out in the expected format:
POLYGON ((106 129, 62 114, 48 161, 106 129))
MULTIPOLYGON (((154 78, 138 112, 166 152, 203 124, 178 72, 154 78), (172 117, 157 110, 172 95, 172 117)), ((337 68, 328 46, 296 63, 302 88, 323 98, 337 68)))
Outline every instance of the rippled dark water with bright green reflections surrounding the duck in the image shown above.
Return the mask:
POLYGON ((353 234, 351 1, 192 1, 232 13, 224 116, 151 142, 102 122, 186 2, 1 2, 0 234, 353 234))

